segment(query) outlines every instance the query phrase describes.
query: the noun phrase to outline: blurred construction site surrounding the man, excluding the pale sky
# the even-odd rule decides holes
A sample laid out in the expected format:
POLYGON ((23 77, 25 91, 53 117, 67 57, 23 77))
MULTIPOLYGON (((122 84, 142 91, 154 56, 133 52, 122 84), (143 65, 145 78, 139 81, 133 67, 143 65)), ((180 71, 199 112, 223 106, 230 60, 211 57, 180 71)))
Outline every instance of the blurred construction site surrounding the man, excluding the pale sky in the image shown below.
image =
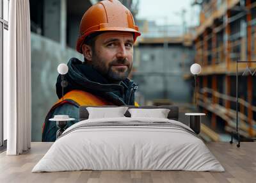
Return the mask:
MULTIPOLYGON (((142 36, 134 45, 131 79, 139 84, 136 100, 140 105, 174 104, 184 113, 202 111, 200 135, 206 141, 227 141, 236 127, 236 61, 254 61, 256 56, 256 1, 191 1, 199 25, 188 27, 180 10, 179 25, 157 24, 157 19, 138 19, 140 1, 122 1, 131 10, 142 36), (202 66, 198 76, 198 106, 195 81, 189 68, 202 66)), ((69 58, 83 60, 75 51, 79 22, 97 0, 30 0, 32 70, 32 141, 40 141, 42 123, 57 100, 55 82, 60 63, 69 58), (40 97, 38 97, 40 93, 40 97), (47 100, 45 100, 47 99, 47 100)), ((179 11, 179 10, 178 10, 179 11)), ((152 12, 153 13, 153 12, 152 12)), ((172 12, 171 12, 172 13, 172 12)), ((168 22, 166 20, 166 22, 168 22)), ((244 137, 256 136, 256 79, 246 72, 253 63, 239 63, 239 121, 244 137)))

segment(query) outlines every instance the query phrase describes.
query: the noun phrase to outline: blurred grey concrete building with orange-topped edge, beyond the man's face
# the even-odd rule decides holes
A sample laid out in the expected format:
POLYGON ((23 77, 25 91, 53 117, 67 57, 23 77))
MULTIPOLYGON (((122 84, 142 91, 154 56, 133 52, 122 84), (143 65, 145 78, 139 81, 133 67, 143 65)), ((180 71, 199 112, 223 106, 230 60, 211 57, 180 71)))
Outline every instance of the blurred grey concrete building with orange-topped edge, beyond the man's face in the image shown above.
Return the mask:
POLYGON ((134 48, 132 79, 139 92, 146 101, 191 102, 191 81, 183 77, 193 63, 191 36, 183 35, 182 26, 137 22, 142 34, 134 48))

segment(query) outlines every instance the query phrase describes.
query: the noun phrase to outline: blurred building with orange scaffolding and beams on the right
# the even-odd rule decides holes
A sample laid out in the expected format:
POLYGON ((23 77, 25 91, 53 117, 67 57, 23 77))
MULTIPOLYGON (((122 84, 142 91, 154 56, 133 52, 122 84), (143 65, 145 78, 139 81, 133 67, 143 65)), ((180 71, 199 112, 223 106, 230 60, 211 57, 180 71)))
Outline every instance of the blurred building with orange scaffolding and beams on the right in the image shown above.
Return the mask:
MULTIPOLYGON (((194 37, 195 62, 202 65, 198 105, 211 116, 213 129, 236 127, 236 61, 256 58, 256 1, 195 1, 201 8, 194 37)), ((238 64, 239 130, 256 136, 255 63, 238 64), (244 72, 246 68, 249 70, 244 72)))

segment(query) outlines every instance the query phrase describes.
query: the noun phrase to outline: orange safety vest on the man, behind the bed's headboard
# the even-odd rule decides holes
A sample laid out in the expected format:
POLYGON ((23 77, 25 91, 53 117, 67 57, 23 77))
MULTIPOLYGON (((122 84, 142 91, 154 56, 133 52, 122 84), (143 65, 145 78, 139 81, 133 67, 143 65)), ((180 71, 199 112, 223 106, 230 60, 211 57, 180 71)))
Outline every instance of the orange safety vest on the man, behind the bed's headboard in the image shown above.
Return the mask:
MULTIPOLYGON (((93 95, 89 92, 84 92, 83 90, 72 90, 66 93, 63 96, 63 99, 59 99, 50 109, 49 113, 45 118, 45 122, 43 124, 42 132, 44 133, 45 123, 48 122, 49 118, 52 115, 52 112, 56 107, 69 103, 75 106, 115 106, 115 104, 108 102, 105 99, 102 99, 99 96, 93 95)), ((134 102, 134 106, 139 106, 137 102, 134 102)))

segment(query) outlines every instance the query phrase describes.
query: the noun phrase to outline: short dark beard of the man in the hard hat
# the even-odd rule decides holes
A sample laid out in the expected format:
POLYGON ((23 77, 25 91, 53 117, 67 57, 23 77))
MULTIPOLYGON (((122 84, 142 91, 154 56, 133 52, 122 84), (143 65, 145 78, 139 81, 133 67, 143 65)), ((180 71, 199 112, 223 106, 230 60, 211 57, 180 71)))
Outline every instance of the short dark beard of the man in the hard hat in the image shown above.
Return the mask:
POLYGON ((127 59, 123 60, 115 60, 111 61, 108 66, 106 66, 106 62, 104 59, 100 59, 98 56, 93 56, 92 57, 92 67, 97 70, 102 76, 106 77, 109 82, 111 83, 118 83, 120 81, 124 81, 130 74, 131 68, 132 68, 132 63, 131 65, 128 66, 127 70, 123 72, 123 70, 120 70, 120 72, 116 72, 112 70, 112 65, 113 64, 125 64, 128 65, 127 59))

